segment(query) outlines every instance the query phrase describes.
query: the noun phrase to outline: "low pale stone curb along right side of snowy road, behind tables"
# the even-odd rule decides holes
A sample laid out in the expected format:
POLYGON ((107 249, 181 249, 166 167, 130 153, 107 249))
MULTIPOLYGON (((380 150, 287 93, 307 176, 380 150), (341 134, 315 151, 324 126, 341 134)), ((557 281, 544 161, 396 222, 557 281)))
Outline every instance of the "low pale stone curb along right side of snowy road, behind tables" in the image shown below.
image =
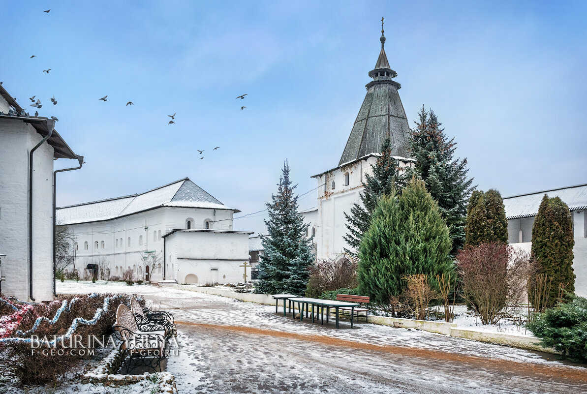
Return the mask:
MULTIPOLYGON (((237 293, 228 289, 215 287, 201 287, 190 285, 174 285, 179 290, 195 291, 205 294, 220 295, 222 297, 240 299, 241 301, 256 302, 257 304, 275 305, 271 295, 254 293, 237 293)), ((279 300, 279 305, 283 301, 279 300)), ((459 327, 456 323, 435 322, 428 320, 390 318, 387 316, 369 315, 367 321, 372 324, 386 325, 395 328, 415 328, 435 334, 453 336, 454 338, 469 339, 471 341, 487 342, 489 344, 512 346, 513 348, 527 349, 537 352, 560 354, 552 348, 543 348, 540 340, 533 335, 516 335, 507 332, 482 331, 467 327, 459 327)))

